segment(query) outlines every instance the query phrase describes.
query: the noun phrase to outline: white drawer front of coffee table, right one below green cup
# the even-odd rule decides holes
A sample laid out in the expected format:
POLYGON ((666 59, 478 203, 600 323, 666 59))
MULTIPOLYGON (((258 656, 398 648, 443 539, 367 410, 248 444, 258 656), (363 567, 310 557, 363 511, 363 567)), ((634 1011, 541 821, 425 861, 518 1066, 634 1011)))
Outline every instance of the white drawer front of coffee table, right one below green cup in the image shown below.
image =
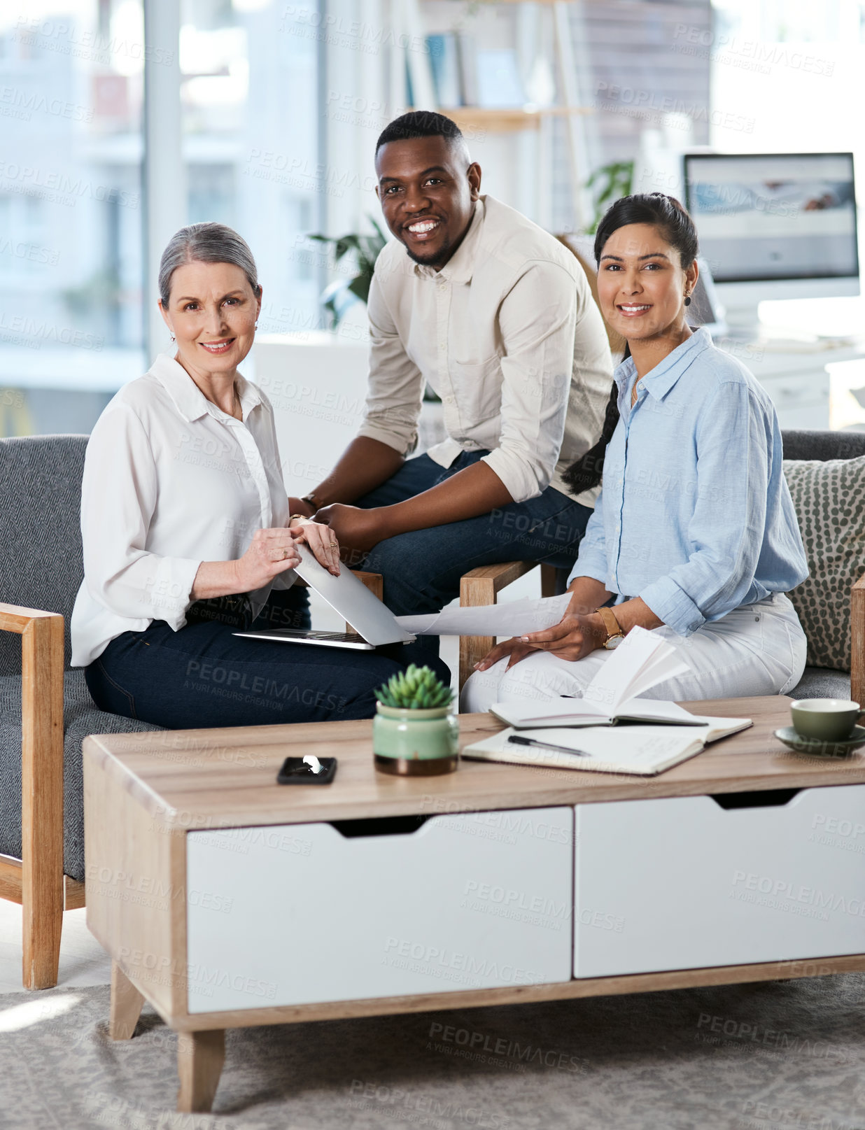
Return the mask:
POLYGON ((865 953, 865 785, 756 808, 580 805, 576 820, 574 976, 865 953))

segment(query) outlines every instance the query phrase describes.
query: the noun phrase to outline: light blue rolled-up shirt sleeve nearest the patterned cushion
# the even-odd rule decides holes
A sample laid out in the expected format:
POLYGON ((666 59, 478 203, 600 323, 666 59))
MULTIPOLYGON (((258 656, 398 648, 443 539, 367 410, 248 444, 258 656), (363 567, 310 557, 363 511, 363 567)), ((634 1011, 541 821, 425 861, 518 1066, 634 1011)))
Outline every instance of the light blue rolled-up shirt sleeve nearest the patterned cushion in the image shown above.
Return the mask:
MULTIPOLYGON (((687 636, 743 602, 763 545, 771 421, 744 382, 719 384, 700 414, 686 562, 639 596, 687 636)), ((765 593, 762 593, 765 596, 765 593)))

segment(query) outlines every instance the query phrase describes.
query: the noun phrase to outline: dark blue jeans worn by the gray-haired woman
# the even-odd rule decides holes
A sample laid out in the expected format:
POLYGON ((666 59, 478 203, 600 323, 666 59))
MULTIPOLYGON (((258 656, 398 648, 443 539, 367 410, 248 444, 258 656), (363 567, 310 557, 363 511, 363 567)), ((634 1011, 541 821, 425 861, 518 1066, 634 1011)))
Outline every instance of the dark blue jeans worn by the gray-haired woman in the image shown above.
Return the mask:
POLYGON ((253 621, 242 598, 198 601, 187 625, 124 632, 85 670, 101 710, 170 730, 372 718, 373 689, 410 662, 450 671, 417 644, 347 651, 241 640, 239 628, 308 627, 309 597, 274 592, 253 621))

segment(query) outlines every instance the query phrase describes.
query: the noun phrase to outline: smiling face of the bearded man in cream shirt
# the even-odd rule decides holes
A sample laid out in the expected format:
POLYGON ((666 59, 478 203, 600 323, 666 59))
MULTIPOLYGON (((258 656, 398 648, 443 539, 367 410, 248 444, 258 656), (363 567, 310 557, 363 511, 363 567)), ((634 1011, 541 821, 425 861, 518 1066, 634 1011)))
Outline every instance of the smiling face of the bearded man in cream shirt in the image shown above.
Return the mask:
POLYGON ((443 137, 388 141, 375 155, 375 192, 388 227, 416 263, 448 262, 472 223, 481 166, 443 137))

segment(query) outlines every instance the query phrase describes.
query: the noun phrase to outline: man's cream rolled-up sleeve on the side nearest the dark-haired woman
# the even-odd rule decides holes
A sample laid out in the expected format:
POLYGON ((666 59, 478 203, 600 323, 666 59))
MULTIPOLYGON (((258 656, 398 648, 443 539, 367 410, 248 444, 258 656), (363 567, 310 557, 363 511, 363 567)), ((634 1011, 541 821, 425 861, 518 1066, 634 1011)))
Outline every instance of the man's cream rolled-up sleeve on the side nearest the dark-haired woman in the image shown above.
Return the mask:
POLYGON ((550 486, 568 416, 577 284, 556 263, 531 264, 501 304, 500 445, 487 463, 514 502, 550 486))

